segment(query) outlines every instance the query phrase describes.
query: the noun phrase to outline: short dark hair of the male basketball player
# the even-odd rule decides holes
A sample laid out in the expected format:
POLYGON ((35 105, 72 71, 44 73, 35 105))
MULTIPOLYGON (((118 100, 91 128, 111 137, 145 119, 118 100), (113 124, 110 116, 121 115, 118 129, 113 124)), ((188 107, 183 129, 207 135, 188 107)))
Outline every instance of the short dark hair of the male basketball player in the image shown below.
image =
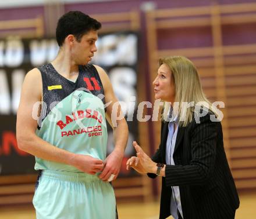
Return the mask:
POLYGON ((73 34, 80 42, 81 37, 91 30, 99 30, 101 23, 83 12, 70 11, 59 19, 56 27, 56 41, 62 46, 66 36, 73 34))

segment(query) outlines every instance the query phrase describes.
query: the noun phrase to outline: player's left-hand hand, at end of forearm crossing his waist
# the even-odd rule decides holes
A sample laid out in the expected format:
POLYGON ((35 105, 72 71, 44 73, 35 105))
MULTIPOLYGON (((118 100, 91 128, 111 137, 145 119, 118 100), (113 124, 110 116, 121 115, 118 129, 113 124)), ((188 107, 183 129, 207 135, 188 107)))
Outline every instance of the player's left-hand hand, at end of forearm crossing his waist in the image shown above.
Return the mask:
POLYGON ((104 163, 102 160, 93 158, 89 155, 76 154, 72 159, 72 165, 84 173, 92 174, 102 171, 104 163))

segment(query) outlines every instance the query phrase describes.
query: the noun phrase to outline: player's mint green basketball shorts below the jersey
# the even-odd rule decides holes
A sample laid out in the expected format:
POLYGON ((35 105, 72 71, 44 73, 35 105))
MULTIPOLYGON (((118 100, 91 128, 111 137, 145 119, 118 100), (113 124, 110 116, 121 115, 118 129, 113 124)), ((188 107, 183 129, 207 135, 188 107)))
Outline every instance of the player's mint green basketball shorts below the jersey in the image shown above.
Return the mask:
POLYGON ((86 173, 43 170, 33 205, 38 219, 116 218, 111 184, 86 173))

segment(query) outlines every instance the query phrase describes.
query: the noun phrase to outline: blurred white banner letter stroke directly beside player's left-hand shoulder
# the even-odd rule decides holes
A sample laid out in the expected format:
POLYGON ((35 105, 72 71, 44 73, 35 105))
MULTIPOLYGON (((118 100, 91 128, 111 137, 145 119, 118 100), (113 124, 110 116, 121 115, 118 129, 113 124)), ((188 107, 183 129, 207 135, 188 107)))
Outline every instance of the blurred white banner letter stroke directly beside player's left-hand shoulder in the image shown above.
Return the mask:
POLYGON ((22 83, 26 72, 24 70, 14 70, 12 72, 12 112, 17 113, 20 103, 20 93, 22 90, 22 83))

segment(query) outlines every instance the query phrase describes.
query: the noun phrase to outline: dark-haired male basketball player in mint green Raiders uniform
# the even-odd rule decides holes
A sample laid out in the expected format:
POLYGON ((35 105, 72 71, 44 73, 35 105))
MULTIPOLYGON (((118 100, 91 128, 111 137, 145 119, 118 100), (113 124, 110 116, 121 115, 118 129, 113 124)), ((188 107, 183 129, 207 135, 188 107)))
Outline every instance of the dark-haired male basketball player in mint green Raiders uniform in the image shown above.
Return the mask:
POLYGON ((101 23, 84 13, 64 14, 56 28, 56 59, 24 79, 17 142, 35 156, 41 173, 33 198, 37 218, 116 218, 108 181, 118 177, 128 129, 125 119, 116 121, 115 149, 106 157, 105 112, 109 118, 115 106, 116 116, 122 112, 105 71, 88 64, 99 28, 101 23))

